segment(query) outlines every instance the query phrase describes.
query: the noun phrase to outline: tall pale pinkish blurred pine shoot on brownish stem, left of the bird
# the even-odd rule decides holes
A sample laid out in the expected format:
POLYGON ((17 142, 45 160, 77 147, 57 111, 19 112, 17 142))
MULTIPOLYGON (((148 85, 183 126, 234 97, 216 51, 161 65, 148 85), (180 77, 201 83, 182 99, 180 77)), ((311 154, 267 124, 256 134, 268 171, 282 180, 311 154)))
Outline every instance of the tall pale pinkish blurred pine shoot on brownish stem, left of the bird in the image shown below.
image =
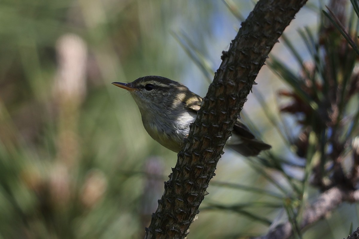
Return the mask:
POLYGON ((86 93, 87 47, 78 35, 65 34, 57 40, 56 53, 53 95, 59 112, 57 158, 70 168, 79 157, 78 120, 86 93))

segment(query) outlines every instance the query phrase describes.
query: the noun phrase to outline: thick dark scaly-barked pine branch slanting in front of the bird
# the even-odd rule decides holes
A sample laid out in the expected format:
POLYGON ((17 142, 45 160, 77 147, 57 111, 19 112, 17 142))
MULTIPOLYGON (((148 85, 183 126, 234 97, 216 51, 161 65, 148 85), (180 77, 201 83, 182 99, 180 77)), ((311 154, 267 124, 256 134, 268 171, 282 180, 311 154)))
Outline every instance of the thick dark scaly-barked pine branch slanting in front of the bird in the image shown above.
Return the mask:
POLYGON ((145 238, 185 238, 254 80, 284 29, 307 0, 260 0, 215 73, 145 238))

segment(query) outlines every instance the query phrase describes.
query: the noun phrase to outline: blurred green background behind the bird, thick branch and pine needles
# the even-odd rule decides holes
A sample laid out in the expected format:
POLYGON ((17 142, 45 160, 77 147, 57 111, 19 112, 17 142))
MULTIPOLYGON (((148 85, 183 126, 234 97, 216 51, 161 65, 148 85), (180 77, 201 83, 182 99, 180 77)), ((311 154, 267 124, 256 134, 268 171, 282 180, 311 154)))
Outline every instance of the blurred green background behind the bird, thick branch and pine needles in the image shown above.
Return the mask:
MULTIPOLYGON (((236 13, 246 18, 253 7, 251 0, 1 1, 0 238, 143 237, 177 156, 149 137, 131 96, 111 82, 160 75, 205 96, 240 27, 236 13)), ((286 29, 297 49, 305 45, 297 30, 316 29, 319 13, 309 1, 286 29)), ((299 74, 283 44, 272 54, 299 74)), ((258 97, 276 115, 278 89, 288 86, 266 66, 256 82, 242 117, 285 157, 290 150, 258 97)), ((288 192, 290 185, 258 170, 227 150, 189 237, 260 235, 285 220, 285 197, 266 175, 288 192)), ((305 238, 318 231, 342 238, 358 224, 353 211, 341 206, 305 238)))

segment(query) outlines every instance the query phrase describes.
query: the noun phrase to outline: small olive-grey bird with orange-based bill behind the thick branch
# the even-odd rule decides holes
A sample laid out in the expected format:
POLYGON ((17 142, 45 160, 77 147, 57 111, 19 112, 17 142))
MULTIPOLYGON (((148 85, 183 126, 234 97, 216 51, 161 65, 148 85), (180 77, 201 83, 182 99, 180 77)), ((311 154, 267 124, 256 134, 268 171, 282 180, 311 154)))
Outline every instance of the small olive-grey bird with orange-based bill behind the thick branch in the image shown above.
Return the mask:
MULTIPOLYGON (((144 76, 129 83, 112 82, 127 90, 135 100, 147 133, 164 147, 178 153, 201 108, 202 97, 180 82, 162 76, 144 76)), ((237 119, 226 142, 243 156, 257 156, 271 145, 255 138, 237 119)))

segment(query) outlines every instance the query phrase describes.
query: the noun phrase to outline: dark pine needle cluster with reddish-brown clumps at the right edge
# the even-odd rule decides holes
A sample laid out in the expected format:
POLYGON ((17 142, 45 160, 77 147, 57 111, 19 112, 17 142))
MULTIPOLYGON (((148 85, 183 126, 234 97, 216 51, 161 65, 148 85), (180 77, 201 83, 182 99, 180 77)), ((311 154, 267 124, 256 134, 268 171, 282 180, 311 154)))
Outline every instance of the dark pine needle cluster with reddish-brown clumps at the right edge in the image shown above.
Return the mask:
MULTIPOLYGON (((301 69, 299 74, 274 56, 269 61, 270 68, 290 86, 278 92, 280 98, 288 99, 279 111, 291 115, 299 129, 296 134, 281 132, 294 153, 292 160, 303 164, 303 178, 299 184, 295 182, 299 187, 293 187, 297 200, 284 204, 295 238, 303 238, 299 230, 301 214, 310 190, 322 192, 334 186, 351 189, 358 186, 359 12, 358 3, 355 0, 351 3, 329 1, 326 6, 329 14, 323 10, 316 31, 308 27, 299 30, 311 56, 307 61, 301 56, 302 49, 298 50, 283 35, 284 44, 301 69)), ((270 167, 285 173, 277 165, 270 167)), ((293 183, 290 177, 287 179, 293 183)), ((348 228, 353 220, 358 224, 357 215, 348 218, 351 222, 348 228)))

